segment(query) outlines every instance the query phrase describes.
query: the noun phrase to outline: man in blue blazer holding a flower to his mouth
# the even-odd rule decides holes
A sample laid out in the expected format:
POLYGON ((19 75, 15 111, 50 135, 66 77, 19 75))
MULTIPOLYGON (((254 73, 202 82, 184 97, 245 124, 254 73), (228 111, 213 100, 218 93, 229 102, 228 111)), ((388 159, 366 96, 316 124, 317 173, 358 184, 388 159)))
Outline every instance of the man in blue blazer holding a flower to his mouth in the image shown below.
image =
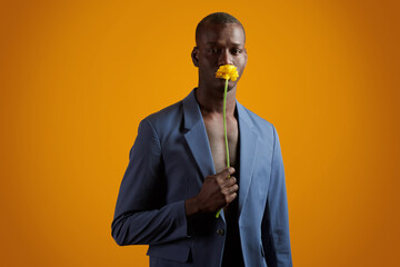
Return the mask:
POLYGON ((150 266, 292 266, 278 134, 236 100, 244 42, 232 16, 202 19, 191 55, 198 88, 140 122, 111 227, 120 246, 149 245, 150 266), (231 168, 224 80, 214 77, 222 65, 239 72, 227 97, 231 168))

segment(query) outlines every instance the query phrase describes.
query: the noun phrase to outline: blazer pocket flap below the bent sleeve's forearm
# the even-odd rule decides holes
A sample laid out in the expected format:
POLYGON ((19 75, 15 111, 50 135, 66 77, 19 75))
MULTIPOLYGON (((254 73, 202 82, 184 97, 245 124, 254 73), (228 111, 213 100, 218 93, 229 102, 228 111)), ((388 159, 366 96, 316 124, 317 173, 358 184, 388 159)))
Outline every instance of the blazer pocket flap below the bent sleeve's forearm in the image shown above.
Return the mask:
POLYGON ((147 255, 150 257, 187 263, 190 254, 190 245, 166 244, 150 245, 147 255))

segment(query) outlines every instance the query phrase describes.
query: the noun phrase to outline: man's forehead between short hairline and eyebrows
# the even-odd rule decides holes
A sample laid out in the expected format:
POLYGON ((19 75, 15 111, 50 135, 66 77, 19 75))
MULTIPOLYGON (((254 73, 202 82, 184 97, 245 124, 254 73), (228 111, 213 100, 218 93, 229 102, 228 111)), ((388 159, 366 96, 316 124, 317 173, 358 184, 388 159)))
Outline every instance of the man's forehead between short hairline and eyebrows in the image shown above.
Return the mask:
POLYGON ((234 43, 244 46, 246 37, 243 28, 237 23, 206 24, 202 27, 197 41, 198 46, 206 46, 209 43, 234 43))

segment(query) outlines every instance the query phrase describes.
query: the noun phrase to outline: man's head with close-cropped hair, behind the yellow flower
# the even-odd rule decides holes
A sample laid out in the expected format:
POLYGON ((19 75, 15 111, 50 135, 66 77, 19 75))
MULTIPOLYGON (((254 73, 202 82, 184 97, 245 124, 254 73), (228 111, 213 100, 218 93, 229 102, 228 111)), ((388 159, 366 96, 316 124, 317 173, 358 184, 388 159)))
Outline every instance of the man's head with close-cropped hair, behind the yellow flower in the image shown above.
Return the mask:
MULTIPOLYGON (((193 65, 199 68, 199 87, 223 92, 224 80, 216 78, 219 66, 234 65, 239 79, 247 63, 243 26, 234 17, 218 12, 203 18, 196 29, 196 47, 192 51, 193 65)), ((228 90, 239 81, 229 81, 228 90)))

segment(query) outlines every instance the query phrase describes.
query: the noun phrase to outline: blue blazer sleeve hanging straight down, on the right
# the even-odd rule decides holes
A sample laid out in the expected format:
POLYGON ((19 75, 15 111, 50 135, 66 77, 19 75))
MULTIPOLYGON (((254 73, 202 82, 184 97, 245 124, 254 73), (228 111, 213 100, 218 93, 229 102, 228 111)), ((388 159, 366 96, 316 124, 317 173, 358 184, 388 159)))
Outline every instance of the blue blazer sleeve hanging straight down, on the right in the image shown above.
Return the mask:
POLYGON ((267 205, 262 218, 262 246, 268 266, 291 267, 288 199, 279 137, 273 128, 273 152, 267 205))

